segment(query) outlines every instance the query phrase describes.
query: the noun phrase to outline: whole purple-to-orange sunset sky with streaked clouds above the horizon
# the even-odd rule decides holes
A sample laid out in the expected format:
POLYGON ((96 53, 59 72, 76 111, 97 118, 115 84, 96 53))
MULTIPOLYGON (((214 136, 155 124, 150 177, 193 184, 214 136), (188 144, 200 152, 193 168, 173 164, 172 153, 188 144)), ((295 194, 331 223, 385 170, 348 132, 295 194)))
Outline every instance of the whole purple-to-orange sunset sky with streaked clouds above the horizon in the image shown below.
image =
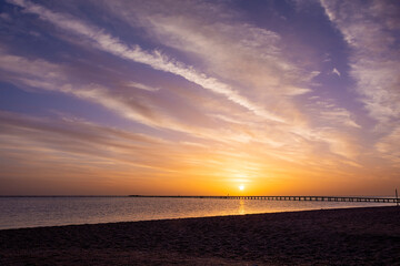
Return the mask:
POLYGON ((0 1, 0 195, 392 195, 397 0, 0 1))

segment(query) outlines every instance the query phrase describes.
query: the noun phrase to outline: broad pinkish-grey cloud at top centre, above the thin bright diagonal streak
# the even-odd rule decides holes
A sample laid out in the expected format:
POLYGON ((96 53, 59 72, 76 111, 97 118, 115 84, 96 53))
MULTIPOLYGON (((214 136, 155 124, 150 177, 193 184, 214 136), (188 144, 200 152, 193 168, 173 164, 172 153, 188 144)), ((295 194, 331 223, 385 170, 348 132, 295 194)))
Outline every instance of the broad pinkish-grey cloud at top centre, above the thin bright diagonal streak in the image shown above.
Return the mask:
POLYGON ((176 8, 163 9, 162 4, 143 10, 136 4, 117 2, 110 9, 131 27, 146 29, 163 45, 196 58, 207 72, 232 81, 253 102, 270 101, 269 105, 274 108, 273 100, 279 99, 289 105, 290 101, 284 96, 311 91, 300 81, 312 76, 286 58, 277 32, 240 18, 238 21, 223 6, 177 6, 178 11, 176 8), (134 16, 130 16, 132 13, 134 16))

